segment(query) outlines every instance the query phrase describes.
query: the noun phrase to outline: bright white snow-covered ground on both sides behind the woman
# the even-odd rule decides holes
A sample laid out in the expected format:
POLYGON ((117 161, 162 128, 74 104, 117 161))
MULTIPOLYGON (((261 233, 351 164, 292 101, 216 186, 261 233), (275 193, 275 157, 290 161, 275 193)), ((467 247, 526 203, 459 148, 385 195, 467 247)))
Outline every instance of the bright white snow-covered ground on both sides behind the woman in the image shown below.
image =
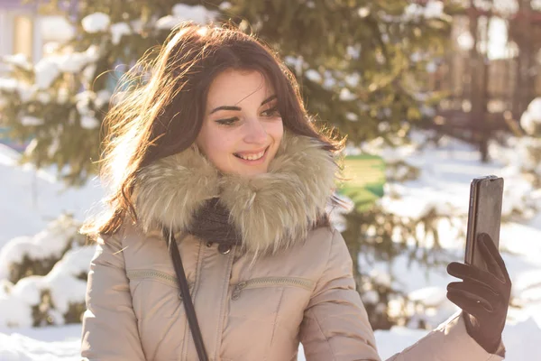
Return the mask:
MULTIPOLYGON (((385 199, 385 207, 405 215, 420 215, 430 207, 444 213, 451 209, 465 213, 470 180, 487 174, 502 175, 506 180, 504 213, 509 213, 512 208, 520 208, 526 200, 539 202, 535 196, 522 198, 528 190, 527 185, 503 163, 481 164, 478 153, 463 143, 449 141, 443 145, 439 149, 408 154, 408 162, 423 170, 421 177, 396 187, 394 190, 403 198, 394 201, 385 199)), ((0 218, 0 251, 2 245, 14 236, 32 236, 41 231, 61 211, 70 210, 76 218, 82 219, 87 208, 95 205, 102 194, 95 185, 91 185, 82 190, 67 190, 59 195, 62 186, 48 173, 35 174, 17 166, 15 160, 13 152, 0 148, 0 199, 3 200, 0 205, 3 215, 0 218), (38 184, 37 202, 32 202, 32 182, 38 184)), ((452 260, 462 261, 463 241, 457 238, 454 227, 445 221, 438 225, 440 243, 452 260)), ((462 227, 465 224, 462 223, 462 227)), ((520 309, 509 310, 503 335, 508 349, 506 359, 541 359, 541 214, 524 224, 502 226, 500 249, 507 251, 503 253, 503 258, 513 281, 512 294, 521 305, 520 309)), ((374 264, 372 272, 385 279, 387 267, 387 264, 374 264)), ((436 326, 457 310, 445 298, 446 284, 454 281, 445 273, 445 267, 426 273, 426 269, 416 264, 408 267, 407 260, 399 258, 393 270, 400 275, 395 282, 402 290, 410 292, 412 298, 429 300, 433 305, 431 310, 426 310, 429 314, 422 315, 431 325, 436 326)), ((80 325, 0 329, 0 360, 76 360, 80 330, 80 325)), ((402 327, 376 331, 381 358, 386 359, 415 343, 426 332, 402 327)), ((304 360, 304 357, 299 356, 299 360, 304 360)))

